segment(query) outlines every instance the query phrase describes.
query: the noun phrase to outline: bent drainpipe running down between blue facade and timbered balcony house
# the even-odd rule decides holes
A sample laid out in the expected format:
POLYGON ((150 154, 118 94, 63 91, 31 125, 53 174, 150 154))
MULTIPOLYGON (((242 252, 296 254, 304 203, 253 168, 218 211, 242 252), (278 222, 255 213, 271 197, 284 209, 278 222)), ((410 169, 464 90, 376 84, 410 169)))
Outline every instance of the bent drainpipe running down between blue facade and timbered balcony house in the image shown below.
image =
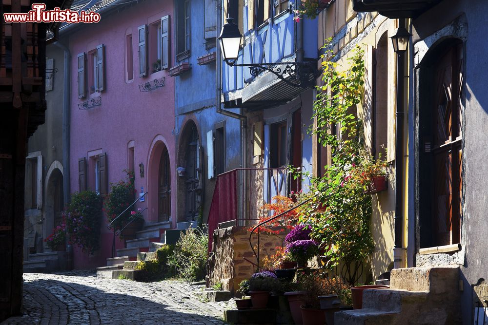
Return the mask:
MULTIPOLYGON (((217 0, 217 33, 222 29, 222 1, 217 0)), ((218 37, 218 35, 217 35, 218 37)), ((241 167, 246 168, 247 161, 245 159, 246 152, 247 152, 247 116, 243 115, 243 109, 241 109, 241 114, 237 114, 234 112, 229 112, 225 109, 222 109, 222 52, 219 44, 219 40, 216 40, 216 93, 215 93, 215 108, 218 114, 222 114, 225 116, 229 116, 232 118, 237 118, 241 121, 241 167)), ((244 181, 245 171, 243 172, 243 178, 241 181, 244 181)), ((244 191, 244 187, 241 186, 243 200, 242 202, 247 202, 245 195, 246 192, 244 191)), ((246 205, 240 209, 243 211, 243 218, 246 215, 246 205)))

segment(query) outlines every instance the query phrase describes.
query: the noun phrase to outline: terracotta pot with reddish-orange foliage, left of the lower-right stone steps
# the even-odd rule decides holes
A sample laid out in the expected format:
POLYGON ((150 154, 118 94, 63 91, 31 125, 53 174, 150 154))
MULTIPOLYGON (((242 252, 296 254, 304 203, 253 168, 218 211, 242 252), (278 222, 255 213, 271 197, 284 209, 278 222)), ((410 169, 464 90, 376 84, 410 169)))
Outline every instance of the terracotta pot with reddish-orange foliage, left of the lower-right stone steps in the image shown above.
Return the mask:
POLYGON ((301 276, 300 282, 306 291, 304 304, 301 306, 303 324, 323 325, 325 313, 320 309, 319 296, 330 293, 325 279, 318 272, 310 272, 301 276))

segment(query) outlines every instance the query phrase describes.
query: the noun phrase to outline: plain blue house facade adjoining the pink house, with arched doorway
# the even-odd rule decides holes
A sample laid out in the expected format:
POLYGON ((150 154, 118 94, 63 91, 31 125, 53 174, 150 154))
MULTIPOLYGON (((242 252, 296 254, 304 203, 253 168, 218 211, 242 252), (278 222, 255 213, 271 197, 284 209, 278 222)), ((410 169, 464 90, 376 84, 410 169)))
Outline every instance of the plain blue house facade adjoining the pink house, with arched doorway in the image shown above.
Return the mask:
POLYGON ((174 3, 178 223, 206 222, 216 175, 241 165, 241 122, 216 112, 216 3, 174 3))

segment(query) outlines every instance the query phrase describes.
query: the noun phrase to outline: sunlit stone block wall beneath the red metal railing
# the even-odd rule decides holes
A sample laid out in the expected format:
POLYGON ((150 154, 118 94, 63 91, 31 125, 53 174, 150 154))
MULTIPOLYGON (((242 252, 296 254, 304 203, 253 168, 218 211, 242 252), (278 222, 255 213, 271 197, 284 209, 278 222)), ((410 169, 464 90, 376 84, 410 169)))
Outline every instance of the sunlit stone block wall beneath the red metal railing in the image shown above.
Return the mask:
MULTIPOLYGON (((249 279, 254 273, 251 263, 256 263, 256 257, 249 244, 249 231, 245 227, 228 227, 216 229, 213 234, 214 242, 207 266, 207 287, 222 283, 224 290, 235 293, 242 280, 249 279)), ((260 265, 267 256, 275 254, 277 246, 284 246, 286 233, 276 235, 260 235, 260 265), (283 239, 282 239, 283 238, 283 239)), ((252 236, 254 248, 257 248, 258 235, 252 236)))

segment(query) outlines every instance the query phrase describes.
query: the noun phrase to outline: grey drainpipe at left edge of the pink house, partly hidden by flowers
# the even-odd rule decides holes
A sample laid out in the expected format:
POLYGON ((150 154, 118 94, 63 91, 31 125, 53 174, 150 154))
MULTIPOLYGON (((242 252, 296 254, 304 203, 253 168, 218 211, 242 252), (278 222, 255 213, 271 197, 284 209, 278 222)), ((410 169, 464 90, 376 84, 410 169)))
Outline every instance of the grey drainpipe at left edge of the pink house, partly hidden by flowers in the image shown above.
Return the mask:
MULTIPOLYGON (((69 102, 71 95, 71 53, 68 47, 59 41, 53 43, 64 51, 63 101, 62 101, 62 167, 63 167, 63 198, 64 203, 70 200, 70 170, 69 170, 69 102)), ((69 243, 69 233, 66 234, 69 243)), ((66 244, 66 269, 72 269, 73 249, 66 244)))

